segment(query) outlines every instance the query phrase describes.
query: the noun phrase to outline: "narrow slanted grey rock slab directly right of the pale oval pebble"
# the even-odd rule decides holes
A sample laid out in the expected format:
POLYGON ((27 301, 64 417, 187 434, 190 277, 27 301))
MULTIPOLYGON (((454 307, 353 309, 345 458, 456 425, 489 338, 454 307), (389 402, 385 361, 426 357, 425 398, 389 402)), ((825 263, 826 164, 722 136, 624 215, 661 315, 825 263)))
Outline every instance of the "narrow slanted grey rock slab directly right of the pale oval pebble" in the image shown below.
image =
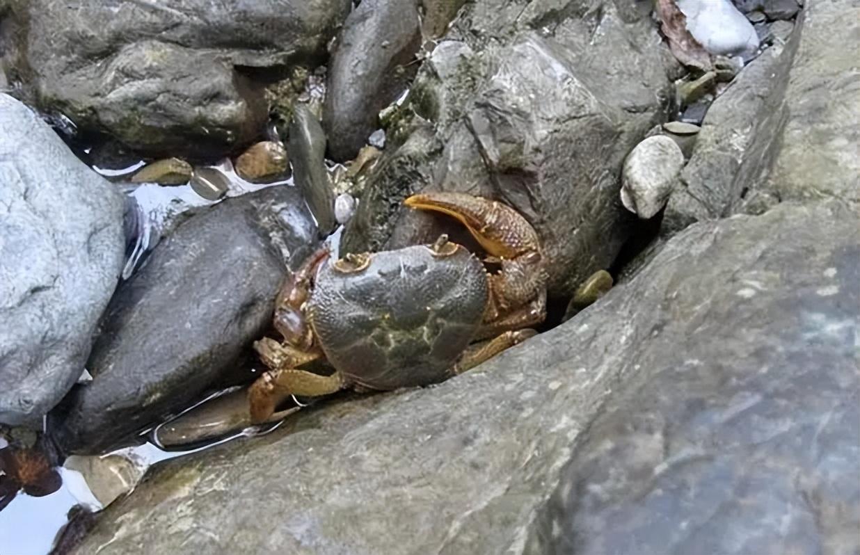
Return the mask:
POLYGON ((668 200, 662 233, 731 213, 767 171, 786 117, 782 101, 796 48, 797 40, 766 49, 711 105, 668 200))

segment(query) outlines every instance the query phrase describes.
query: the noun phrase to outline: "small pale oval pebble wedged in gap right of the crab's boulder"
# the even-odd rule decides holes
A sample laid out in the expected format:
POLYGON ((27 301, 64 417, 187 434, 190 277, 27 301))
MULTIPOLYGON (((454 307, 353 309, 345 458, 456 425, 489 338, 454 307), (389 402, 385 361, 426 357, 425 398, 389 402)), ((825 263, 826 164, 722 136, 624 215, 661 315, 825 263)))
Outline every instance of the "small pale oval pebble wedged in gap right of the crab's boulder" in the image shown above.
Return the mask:
POLYGON ((621 175, 621 202, 643 220, 663 210, 675 179, 684 168, 684 153, 669 137, 648 137, 630 152, 621 175))

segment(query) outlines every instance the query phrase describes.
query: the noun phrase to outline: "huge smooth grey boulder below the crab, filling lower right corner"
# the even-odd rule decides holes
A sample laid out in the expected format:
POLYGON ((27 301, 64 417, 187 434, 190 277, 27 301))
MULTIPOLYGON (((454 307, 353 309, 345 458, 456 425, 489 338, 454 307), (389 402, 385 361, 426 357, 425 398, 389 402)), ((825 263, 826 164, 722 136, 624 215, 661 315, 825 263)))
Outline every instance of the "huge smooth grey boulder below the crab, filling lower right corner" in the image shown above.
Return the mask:
POLYGON ((857 216, 700 223, 474 371, 159 463, 77 552, 855 552, 857 216))

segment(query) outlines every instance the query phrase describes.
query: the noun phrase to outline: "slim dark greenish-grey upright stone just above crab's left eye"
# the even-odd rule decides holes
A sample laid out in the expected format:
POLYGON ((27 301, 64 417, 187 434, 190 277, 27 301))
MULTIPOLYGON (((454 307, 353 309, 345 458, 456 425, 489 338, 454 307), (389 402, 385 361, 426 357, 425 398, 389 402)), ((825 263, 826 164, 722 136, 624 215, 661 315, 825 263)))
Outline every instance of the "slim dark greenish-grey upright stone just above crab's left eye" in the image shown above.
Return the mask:
POLYGON ((310 213, 322 235, 335 229, 335 193, 325 165, 326 137, 316 116, 297 106, 290 125, 290 157, 296 185, 301 187, 310 213))

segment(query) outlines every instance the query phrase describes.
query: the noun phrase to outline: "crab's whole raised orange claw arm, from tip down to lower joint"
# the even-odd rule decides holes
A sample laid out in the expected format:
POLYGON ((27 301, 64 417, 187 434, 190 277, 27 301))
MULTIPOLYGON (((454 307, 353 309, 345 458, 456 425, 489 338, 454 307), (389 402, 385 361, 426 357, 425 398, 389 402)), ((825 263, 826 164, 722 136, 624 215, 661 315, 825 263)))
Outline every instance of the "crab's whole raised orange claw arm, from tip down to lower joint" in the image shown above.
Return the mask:
POLYGON ((462 192, 417 194, 404 203, 457 218, 490 257, 501 260, 501 273, 490 277, 492 302, 485 323, 504 321, 504 328, 514 329, 544 319, 546 277, 540 240, 519 212, 462 192))

